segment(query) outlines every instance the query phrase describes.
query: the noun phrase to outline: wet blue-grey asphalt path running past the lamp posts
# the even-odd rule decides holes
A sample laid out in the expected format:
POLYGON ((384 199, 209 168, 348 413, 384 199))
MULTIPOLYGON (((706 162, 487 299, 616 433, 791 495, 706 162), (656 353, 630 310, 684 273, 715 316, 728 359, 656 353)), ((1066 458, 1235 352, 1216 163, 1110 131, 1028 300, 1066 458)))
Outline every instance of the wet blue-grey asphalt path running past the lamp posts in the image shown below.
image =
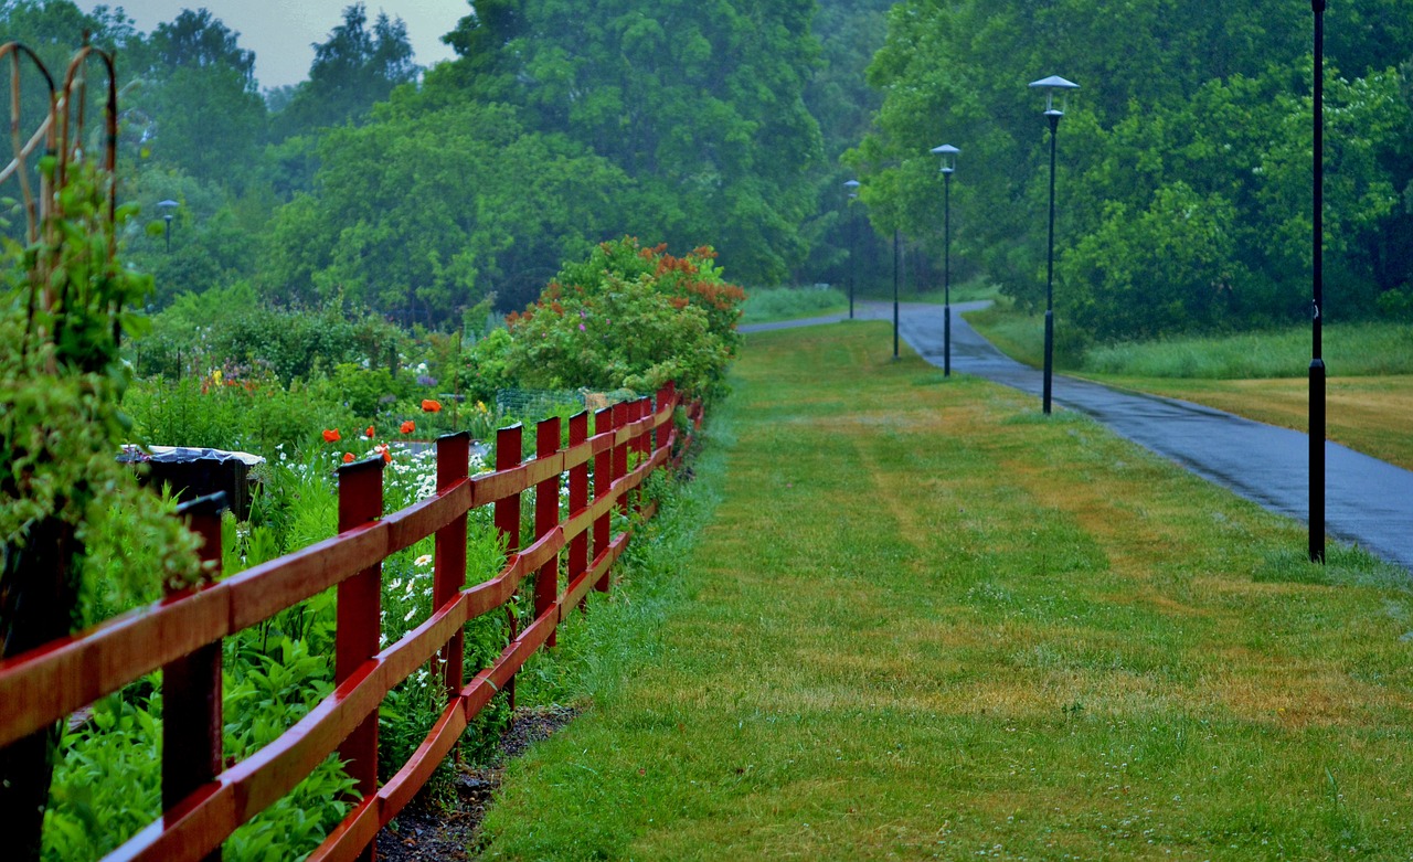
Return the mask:
MULTIPOLYGON (((1041 373, 1005 356, 961 318, 985 302, 952 305, 952 370, 1036 396, 1041 373)), ((862 319, 892 319, 887 302, 856 308, 862 319)), ((742 326, 756 332, 829 324, 839 317, 742 326)), ((904 304, 899 329, 923 359, 942 365, 942 308, 904 304)), ((1056 376, 1056 404, 1087 413, 1115 432, 1272 512, 1308 523, 1308 437, 1221 410, 1056 376)), ((1325 530, 1413 571, 1413 472, 1325 442, 1325 530)))

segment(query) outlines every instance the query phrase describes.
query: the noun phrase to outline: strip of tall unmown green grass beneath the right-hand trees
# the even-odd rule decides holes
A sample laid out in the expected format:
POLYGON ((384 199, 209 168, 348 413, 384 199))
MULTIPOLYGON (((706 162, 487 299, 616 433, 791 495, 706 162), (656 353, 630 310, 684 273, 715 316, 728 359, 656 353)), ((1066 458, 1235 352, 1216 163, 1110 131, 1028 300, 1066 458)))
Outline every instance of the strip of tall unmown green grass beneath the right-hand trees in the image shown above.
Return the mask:
MULTIPOLYGON (((1324 359, 1331 374, 1344 377, 1413 374, 1413 326, 1378 322, 1328 326, 1324 359)), ((1310 329, 1296 328, 1096 346, 1085 353, 1081 370, 1133 377, 1251 380, 1299 377, 1308 366, 1310 329)))

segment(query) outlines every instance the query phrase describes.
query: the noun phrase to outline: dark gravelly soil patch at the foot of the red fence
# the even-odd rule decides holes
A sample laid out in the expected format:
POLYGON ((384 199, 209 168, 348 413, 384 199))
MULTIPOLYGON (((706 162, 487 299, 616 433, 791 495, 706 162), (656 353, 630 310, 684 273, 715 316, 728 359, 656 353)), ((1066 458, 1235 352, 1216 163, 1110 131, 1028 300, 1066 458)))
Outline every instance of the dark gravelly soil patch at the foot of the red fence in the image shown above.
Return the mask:
POLYGON ((387 862, 463 862, 471 858, 480 821, 500 787, 506 763, 531 745, 569 724, 578 709, 540 707, 519 709, 500 735, 496 759, 487 766, 462 764, 456 773, 456 798, 447 808, 413 800, 377 834, 377 858, 387 862))

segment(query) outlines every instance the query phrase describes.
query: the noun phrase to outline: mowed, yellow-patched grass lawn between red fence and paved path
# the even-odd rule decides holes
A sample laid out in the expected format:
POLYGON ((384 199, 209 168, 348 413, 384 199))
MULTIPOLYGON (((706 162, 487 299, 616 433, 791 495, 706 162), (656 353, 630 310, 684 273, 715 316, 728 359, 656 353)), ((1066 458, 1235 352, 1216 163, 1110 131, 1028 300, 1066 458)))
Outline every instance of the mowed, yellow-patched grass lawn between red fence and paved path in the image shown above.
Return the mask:
POLYGON ((483 858, 1413 855, 1406 572, 890 349, 747 339, 678 598, 483 858))

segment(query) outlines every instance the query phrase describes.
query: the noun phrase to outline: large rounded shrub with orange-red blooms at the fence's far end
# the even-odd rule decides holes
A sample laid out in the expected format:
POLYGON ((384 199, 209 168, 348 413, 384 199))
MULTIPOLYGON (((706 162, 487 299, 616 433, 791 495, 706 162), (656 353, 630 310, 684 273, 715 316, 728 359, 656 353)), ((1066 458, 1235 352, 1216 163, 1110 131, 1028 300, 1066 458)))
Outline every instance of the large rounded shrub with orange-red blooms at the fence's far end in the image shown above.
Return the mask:
POLYGON ((545 389, 651 391, 675 382, 714 397, 736 355, 746 294, 722 280, 711 249, 685 257, 636 239, 602 243, 509 318, 512 374, 545 389))

